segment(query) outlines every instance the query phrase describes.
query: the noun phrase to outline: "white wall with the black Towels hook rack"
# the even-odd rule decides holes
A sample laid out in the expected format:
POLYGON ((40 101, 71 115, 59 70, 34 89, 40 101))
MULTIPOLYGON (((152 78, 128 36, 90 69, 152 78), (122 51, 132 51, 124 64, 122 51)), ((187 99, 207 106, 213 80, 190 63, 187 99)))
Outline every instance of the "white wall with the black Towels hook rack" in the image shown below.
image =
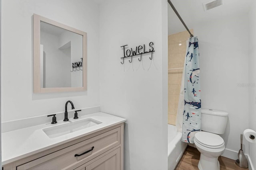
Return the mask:
POLYGON ((167 169, 167 1, 108 0, 100 5, 100 106, 125 117, 124 169, 167 169), (154 42, 153 60, 120 57, 120 46, 154 42))

